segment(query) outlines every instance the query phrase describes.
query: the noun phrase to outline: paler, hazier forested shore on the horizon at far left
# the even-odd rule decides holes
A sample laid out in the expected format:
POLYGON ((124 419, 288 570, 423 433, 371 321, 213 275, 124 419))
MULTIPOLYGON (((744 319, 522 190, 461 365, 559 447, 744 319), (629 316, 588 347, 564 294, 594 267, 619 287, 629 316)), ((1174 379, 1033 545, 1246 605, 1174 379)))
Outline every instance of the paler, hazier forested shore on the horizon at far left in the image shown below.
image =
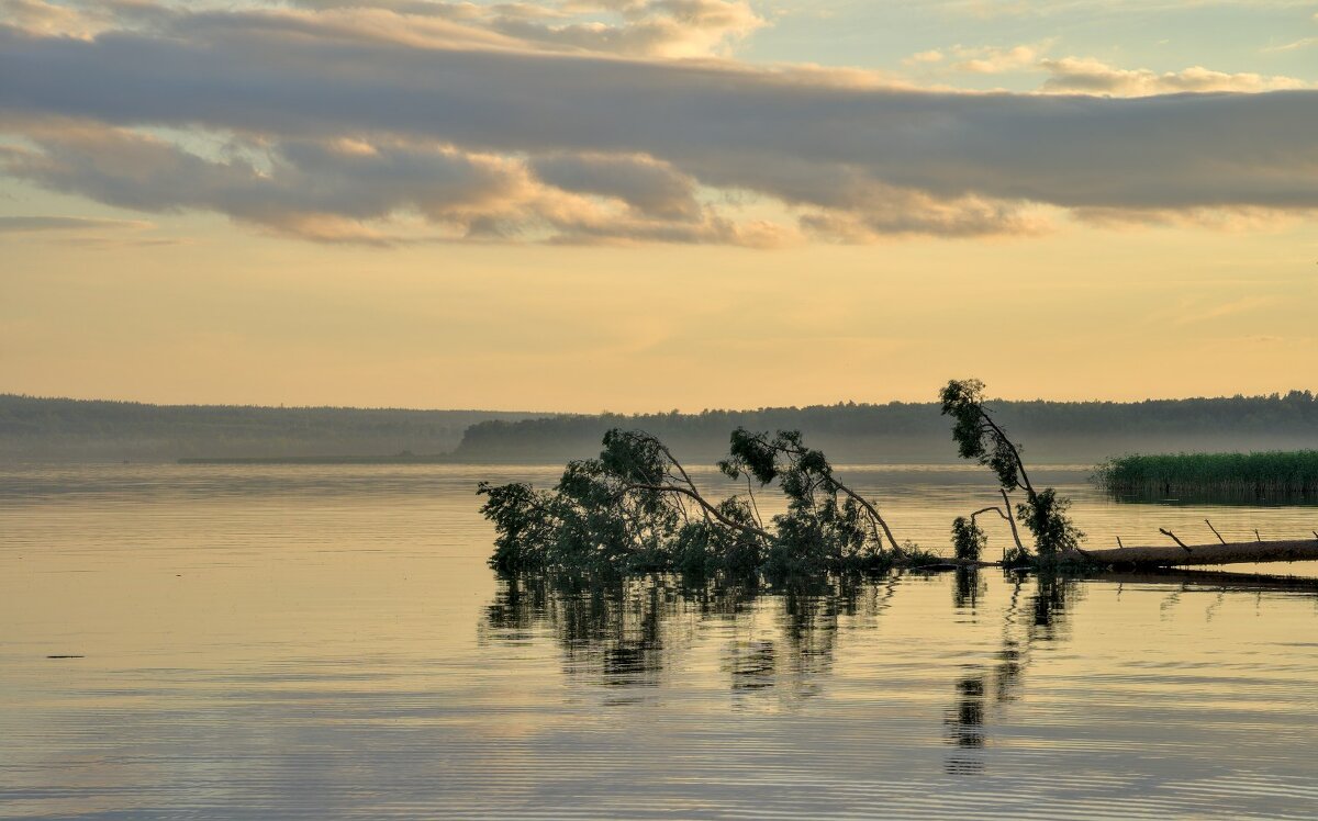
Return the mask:
POLYGON ((542 414, 146 405, 0 394, 0 459, 385 456, 452 451, 473 423, 542 414))

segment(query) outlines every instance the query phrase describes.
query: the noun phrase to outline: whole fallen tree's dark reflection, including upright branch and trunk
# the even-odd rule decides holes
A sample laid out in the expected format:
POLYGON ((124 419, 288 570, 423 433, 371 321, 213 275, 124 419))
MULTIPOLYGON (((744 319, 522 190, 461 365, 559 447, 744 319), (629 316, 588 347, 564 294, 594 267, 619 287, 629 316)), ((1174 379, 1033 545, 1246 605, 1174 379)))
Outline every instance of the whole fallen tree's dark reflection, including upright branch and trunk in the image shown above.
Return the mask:
MULTIPOLYGON (((829 577, 788 588, 766 588, 754 579, 734 577, 510 576, 500 581, 485 610, 480 640, 543 644, 548 639, 571 681, 605 688, 613 702, 643 698, 646 688, 656 685, 706 692, 725 688, 734 710, 772 710, 824 692, 824 684, 844 667, 838 659, 847 658, 840 655, 847 650, 870 664, 861 665, 869 672, 851 669, 850 680, 842 684, 854 685, 857 676, 873 675, 879 667, 874 662, 895 662, 899 668, 916 669, 915 675, 936 669, 912 664, 916 658, 931 659, 928 654, 916 651, 907 658, 903 644, 876 647, 884 634, 919 642, 928 631, 931 642, 941 643, 938 652, 965 639, 966 663, 956 668, 950 704, 942 710, 948 746, 944 766, 948 774, 974 775, 990 760, 992 725, 1023 698, 1032 662, 1048 644, 1070 639, 1072 613, 1085 589, 1085 579, 1077 576, 1004 572, 1004 585, 992 586, 994 608, 986 610, 987 573, 963 569, 944 577, 950 582, 957 615, 953 622, 912 623, 908 618, 884 625, 886 631, 875 627, 895 592, 928 589, 929 576, 829 577), (948 634, 948 629, 953 633, 948 634), (855 646, 847 648, 849 639, 855 646), (987 647, 975 643, 983 639, 987 647), (875 655, 865 659, 866 654, 875 655)), ((1099 579, 1173 585, 1174 590, 1193 585, 1260 594, 1318 593, 1314 580, 1217 572, 1099 579)), ((945 594, 944 589, 937 593, 945 594)), ((936 662, 931 659, 931 664, 936 662)), ((884 681, 866 681, 865 687, 875 689, 861 691, 866 693, 862 700, 883 697, 884 681)), ((895 687, 911 687, 911 681, 895 687)))

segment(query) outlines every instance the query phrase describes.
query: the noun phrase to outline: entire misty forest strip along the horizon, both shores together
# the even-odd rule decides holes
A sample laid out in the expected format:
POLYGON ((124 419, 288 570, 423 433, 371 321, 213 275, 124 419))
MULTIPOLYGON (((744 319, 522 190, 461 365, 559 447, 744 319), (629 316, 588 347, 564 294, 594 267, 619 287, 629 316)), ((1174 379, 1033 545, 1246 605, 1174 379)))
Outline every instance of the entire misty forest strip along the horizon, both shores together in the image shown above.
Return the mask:
MULTIPOLYGON (((1311 391, 991 407, 1028 461, 1093 464, 1130 452, 1318 448, 1311 391)), ((840 403, 699 414, 554 415, 349 407, 162 406, 0 394, 0 459, 390 457, 561 464, 593 456, 610 427, 643 428, 691 464, 713 464, 737 426, 800 430, 836 464, 953 463, 937 405, 840 403)))

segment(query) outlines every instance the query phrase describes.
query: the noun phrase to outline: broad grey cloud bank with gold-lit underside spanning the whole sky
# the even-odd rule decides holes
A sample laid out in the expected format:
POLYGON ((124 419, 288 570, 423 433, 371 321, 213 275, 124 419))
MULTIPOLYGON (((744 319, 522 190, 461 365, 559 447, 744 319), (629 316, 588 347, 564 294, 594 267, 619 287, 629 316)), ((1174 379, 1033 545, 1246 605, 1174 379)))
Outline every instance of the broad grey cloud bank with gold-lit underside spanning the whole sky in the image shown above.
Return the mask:
MULTIPOLYGON (((645 18, 655 5, 608 8, 645 18)), ((775 245, 1028 236, 1058 208, 1318 208, 1307 90, 928 91, 854 71, 530 47, 488 28, 464 40, 452 8, 430 14, 436 28, 386 36, 409 26, 377 4, 380 25, 362 33, 341 11, 175 9, 91 40, 0 26, 0 132, 13 136, 0 167, 121 207, 361 242, 775 245)), ((1106 76, 1054 67, 1054 79, 1106 76)), ((1198 90, 1223 82, 1182 74, 1198 90)), ((1111 84, 1141 87, 1123 82, 1111 84)))

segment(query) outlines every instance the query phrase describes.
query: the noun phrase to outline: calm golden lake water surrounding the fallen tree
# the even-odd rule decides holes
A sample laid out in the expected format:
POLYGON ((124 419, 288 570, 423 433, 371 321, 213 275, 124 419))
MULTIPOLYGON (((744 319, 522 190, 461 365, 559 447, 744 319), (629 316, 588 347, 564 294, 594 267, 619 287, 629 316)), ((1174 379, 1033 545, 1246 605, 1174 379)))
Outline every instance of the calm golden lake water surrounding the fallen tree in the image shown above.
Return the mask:
MULTIPOLYGON (((995 498, 840 472, 928 546, 995 498)), ((0 817, 1318 816, 1318 582, 497 580, 476 482, 556 473, 0 467, 0 817)), ((1318 527, 1085 476, 1094 546, 1318 527)))

